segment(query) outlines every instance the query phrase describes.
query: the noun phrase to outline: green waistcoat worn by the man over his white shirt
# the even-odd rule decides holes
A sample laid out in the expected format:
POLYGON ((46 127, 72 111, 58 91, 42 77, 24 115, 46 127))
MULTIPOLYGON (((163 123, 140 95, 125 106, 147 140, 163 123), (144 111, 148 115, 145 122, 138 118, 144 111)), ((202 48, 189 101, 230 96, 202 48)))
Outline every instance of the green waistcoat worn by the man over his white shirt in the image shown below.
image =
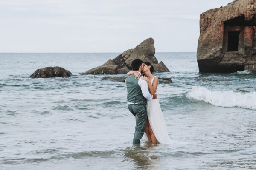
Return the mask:
POLYGON ((137 104, 147 104, 147 99, 143 96, 138 84, 139 80, 135 79, 134 74, 126 78, 127 102, 137 104))

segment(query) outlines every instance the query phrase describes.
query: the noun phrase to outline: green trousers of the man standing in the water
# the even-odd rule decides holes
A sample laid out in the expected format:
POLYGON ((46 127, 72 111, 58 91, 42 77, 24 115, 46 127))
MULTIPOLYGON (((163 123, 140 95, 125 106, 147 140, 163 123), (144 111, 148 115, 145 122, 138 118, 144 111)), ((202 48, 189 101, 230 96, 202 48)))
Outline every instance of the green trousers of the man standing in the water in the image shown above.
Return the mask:
POLYGON ((135 116, 136 126, 133 144, 139 144, 145 132, 145 125, 147 119, 147 106, 145 104, 128 105, 129 111, 135 116))

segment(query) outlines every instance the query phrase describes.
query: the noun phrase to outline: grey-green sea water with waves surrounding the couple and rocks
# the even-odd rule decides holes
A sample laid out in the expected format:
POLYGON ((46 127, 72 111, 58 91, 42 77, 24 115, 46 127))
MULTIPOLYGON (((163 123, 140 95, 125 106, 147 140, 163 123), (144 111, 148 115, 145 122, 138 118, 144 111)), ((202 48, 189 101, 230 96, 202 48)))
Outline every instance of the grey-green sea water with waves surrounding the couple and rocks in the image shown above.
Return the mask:
MULTIPOLYGON (((124 83, 79 73, 118 53, 0 54, 0 168, 256 169, 256 74, 201 74, 196 53, 156 53, 172 144, 132 145, 124 83), (61 66, 67 78, 29 79, 61 66)), ((117 76, 124 75, 119 74, 117 76)))

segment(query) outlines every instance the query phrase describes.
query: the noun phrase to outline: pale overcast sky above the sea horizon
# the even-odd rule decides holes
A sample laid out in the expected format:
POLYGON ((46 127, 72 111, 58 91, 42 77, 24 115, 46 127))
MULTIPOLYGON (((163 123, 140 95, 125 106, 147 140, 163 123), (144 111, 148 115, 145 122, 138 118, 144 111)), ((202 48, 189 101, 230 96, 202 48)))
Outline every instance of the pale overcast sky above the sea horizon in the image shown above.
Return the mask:
POLYGON ((196 51, 199 17, 232 0, 0 0, 0 52, 196 51))

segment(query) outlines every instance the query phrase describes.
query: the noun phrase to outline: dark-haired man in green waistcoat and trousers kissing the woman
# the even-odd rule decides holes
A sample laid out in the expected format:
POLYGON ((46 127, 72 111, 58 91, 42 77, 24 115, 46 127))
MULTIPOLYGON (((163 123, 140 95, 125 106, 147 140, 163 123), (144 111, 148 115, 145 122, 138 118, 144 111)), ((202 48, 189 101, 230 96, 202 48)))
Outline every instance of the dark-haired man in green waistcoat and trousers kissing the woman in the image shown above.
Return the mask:
MULTIPOLYGON (((143 62, 135 59, 131 62, 132 70, 143 73, 143 62)), ((128 76, 125 80, 127 91, 127 104, 129 111, 135 116, 136 127, 133 144, 139 144, 145 132, 145 123, 147 119, 147 99, 151 100, 153 96, 148 91, 148 83, 143 79, 135 79, 134 74, 128 76)), ((156 96, 154 96, 156 98, 156 96)))

